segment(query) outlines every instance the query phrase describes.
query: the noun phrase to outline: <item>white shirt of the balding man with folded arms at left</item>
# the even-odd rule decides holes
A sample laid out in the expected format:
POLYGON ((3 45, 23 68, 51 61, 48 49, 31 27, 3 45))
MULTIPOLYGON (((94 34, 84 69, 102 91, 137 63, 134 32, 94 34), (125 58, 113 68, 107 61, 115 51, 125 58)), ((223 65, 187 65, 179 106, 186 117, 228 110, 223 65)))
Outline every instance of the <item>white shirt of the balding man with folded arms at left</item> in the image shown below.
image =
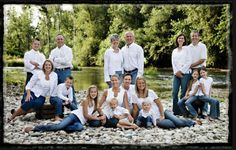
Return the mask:
POLYGON ((53 62, 54 67, 57 69, 73 67, 72 49, 65 44, 61 48, 54 48, 50 53, 49 59, 53 62))

